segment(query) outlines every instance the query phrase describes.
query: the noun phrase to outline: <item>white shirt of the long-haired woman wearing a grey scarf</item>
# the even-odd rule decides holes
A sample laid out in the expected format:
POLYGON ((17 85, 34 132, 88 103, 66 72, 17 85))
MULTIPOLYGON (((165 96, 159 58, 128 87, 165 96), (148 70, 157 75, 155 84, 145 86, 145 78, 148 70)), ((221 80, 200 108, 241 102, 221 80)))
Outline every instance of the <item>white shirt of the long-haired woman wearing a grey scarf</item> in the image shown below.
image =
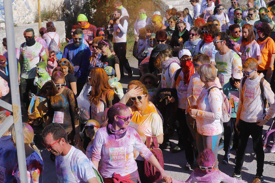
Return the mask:
POLYGON ((169 68, 169 72, 167 72, 167 70, 164 73, 164 70, 162 70, 161 73, 161 88, 170 88, 171 84, 172 84, 172 76, 174 74, 174 72, 176 70, 178 70, 179 68, 181 68, 178 63, 171 63, 169 68))

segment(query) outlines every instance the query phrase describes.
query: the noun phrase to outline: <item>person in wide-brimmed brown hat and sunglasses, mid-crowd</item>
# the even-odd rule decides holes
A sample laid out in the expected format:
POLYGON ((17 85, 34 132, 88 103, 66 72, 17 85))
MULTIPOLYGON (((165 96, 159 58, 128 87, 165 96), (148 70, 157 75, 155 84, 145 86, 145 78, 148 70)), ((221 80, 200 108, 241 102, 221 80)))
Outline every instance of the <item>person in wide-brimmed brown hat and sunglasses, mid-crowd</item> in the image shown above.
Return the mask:
POLYGON ((147 73, 142 75, 139 81, 145 85, 148 94, 150 95, 148 99, 153 102, 151 97, 156 91, 156 86, 158 85, 159 79, 155 75, 147 73))

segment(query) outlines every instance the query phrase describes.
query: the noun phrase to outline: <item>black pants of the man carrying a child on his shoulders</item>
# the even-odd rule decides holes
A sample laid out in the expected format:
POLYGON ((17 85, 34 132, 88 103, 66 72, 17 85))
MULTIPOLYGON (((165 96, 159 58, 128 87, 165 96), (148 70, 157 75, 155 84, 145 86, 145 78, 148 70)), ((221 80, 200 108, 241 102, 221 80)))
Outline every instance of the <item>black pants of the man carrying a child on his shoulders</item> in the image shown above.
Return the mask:
POLYGON ((127 49, 127 43, 114 43, 114 51, 119 58, 119 69, 120 69, 120 76, 124 76, 123 66, 127 70, 128 73, 132 72, 132 69, 128 63, 128 60, 126 59, 126 49, 127 49))

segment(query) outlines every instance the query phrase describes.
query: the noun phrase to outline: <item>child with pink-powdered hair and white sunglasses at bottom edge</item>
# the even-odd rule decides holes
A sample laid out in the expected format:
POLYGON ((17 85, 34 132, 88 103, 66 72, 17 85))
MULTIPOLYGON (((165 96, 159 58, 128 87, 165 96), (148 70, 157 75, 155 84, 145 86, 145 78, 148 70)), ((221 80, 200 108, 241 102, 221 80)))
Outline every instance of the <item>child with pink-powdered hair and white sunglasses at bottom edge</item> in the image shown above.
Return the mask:
POLYGON ((214 152, 206 148, 199 155, 197 159, 197 164, 200 168, 196 168, 187 179, 187 181, 177 181, 173 180, 173 183, 204 183, 204 182, 212 182, 212 183, 244 183, 242 180, 235 180, 232 177, 229 177, 222 171, 215 168, 215 154, 214 152))

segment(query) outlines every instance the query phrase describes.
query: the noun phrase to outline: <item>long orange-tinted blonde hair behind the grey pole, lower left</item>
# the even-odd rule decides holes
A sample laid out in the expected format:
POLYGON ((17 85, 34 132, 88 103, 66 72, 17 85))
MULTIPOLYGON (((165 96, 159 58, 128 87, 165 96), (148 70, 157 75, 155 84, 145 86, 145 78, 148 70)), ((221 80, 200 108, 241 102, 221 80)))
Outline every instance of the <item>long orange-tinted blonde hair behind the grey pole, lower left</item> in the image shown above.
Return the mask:
MULTIPOLYGON (((22 123, 22 125, 23 125, 24 143, 31 144, 32 149, 34 149, 39 154, 39 156, 41 156, 39 149, 36 147, 36 145, 33 142, 34 132, 33 132, 32 127, 27 123, 22 123)), ((13 143, 16 144, 14 125, 11 130, 11 135, 12 135, 13 143)))

